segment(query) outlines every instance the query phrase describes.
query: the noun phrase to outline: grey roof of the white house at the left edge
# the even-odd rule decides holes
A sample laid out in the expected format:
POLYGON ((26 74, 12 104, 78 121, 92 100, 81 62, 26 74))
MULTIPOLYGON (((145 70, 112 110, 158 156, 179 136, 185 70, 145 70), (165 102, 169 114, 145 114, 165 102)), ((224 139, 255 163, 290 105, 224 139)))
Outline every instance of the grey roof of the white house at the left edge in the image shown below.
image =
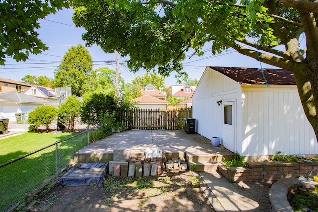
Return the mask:
POLYGON ((18 102, 18 103, 46 103, 48 101, 30 96, 17 91, 10 91, 0 94, 0 99, 4 99, 8 102, 18 102))

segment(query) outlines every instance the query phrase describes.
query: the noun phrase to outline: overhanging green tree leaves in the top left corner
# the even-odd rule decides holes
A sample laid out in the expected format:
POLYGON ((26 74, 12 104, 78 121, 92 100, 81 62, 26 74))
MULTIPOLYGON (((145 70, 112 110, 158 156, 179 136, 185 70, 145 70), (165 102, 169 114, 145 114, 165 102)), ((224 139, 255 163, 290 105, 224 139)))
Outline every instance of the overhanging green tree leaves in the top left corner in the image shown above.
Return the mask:
POLYGON ((26 61, 29 54, 39 54, 48 47, 38 38, 39 19, 68 7, 68 0, 0 1, 0 65, 7 56, 26 61))

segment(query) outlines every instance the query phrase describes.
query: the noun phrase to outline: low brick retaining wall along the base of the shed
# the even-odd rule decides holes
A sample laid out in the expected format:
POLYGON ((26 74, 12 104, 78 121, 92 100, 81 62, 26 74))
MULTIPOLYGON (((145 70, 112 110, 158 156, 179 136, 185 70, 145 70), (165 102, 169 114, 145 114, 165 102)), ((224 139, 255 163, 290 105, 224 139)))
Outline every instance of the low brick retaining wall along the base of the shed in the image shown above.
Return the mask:
POLYGON ((234 182, 259 181, 273 183, 280 179, 301 175, 304 177, 318 176, 318 162, 248 162, 248 167, 219 167, 219 171, 234 182))

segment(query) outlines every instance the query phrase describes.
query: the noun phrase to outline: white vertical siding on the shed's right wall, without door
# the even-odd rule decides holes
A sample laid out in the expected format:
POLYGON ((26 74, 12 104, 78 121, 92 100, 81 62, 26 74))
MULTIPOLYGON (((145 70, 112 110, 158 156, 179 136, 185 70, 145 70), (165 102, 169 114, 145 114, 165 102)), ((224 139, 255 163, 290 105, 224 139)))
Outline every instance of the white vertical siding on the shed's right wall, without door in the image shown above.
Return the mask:
POLYGON ((242 155, 318 154, 296 86, 246 88, 242 94, 242 155))

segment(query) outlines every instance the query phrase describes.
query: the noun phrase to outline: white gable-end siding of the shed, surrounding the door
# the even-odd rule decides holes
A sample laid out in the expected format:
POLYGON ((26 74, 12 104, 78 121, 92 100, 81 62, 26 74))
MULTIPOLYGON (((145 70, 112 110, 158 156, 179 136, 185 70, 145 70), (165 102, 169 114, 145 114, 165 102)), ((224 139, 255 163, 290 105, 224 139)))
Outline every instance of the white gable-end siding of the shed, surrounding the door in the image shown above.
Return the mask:
POLYGON ((217 101, 235 100, 236 107, 235 122, 235 151, 241 152, 241 88, 232 79, 207 67, 200 79, 192 98, 193 118, 196 119, 196 132, 211 139, 213 136, 221 138, 222 144, 222 124, 223 105, 218 106, 217 101), (239 129, 239 130, 238 130, 239 129))

